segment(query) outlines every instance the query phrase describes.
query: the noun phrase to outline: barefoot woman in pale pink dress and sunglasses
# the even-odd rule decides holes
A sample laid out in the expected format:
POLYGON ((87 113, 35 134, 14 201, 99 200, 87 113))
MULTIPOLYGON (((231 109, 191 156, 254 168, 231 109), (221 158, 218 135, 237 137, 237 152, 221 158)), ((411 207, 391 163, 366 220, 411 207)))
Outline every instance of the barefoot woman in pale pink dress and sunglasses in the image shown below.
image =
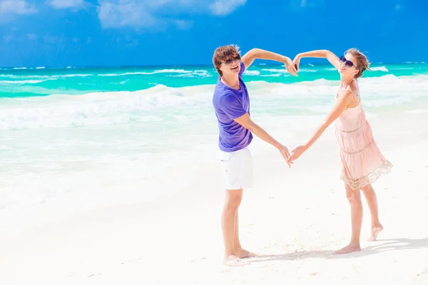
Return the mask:
POLYGON ((342 161, 342 180, 345 182, 347 199, 351 206, 352 238, 350 244, 335 254, 358 252, 362 225, 362 202, 360 190, 365 195, 372 217, 372 234, 374 241, 382 231, 379 222, 377 197, 372 182, 391 170, 392 164, 384 158, 372 136, 372 128, 362 109, 360 89, 357 78, 369 68, 364 54, 355 48, 346 51, 345 56, 337 58, 331 51, 309 51, 299 53, 295 59, 298 68, 300 58, 327 58, 340 73, 340 88, 336 94, 335 105, 320 125, 312 138, 293 150, 290 161, 296 160, 324 133, 325 129, 336 119, 335 135, 340 148, 342 161))

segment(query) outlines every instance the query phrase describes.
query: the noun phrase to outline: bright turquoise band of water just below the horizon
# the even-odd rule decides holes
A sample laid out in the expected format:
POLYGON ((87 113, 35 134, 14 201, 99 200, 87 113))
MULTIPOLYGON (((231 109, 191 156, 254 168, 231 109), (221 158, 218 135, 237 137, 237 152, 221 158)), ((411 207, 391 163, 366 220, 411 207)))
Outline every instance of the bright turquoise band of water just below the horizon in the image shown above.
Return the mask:
MULTIPOLYGON (((365 78, 418 76, 428 73, 424 63, 375 64, 365 78)), ((111 68, 0 68, 0 98, 37 95, 82 95, 96 92, 137 91, 168 86, 179 88, 215 83, 213 66, 111 67, 111 68)), ((330 65, 303 65, 299 76, 290 76, 282 66, 253 65, 245 81, 298 83, 302 81, 337 80, 330 65)))

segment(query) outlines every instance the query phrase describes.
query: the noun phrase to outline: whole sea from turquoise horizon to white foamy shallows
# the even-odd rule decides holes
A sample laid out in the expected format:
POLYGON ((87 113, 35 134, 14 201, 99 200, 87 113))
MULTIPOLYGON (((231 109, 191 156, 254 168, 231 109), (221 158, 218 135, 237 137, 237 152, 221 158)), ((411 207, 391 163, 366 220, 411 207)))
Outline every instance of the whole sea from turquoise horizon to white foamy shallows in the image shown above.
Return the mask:
MULTIPOLYGON (((368 118, 427 112, 428 64, 371 69, 359 79, 368 118)), ((188 170, 218 163, 217 79, 213 66, 1 68, 0 211, 178 191, 193 179, 188 170)), ((332 66, 309 63, 297 77, 265 63, 243 74, 253 120, 285 145, 322 122, 339 79, 332 66)), ((269 147, 255 138, 259 146, 269 147)))

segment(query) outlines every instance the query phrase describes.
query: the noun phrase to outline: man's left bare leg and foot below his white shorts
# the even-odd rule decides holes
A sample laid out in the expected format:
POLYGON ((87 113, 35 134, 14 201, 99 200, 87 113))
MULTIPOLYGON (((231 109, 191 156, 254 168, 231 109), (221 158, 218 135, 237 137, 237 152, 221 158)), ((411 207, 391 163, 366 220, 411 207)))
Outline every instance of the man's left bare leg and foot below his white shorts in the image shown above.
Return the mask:
POLYGON ((225 245, 225 265, 237 266, 241 265, 238 262, 238 257, 233 249, 235 229, 237 227, 235 221, 238 218, 238 207, 243 199, 243 190, 226 190, 225 204, 221 215, 221 226, 223 230, 223 242, 225 245))

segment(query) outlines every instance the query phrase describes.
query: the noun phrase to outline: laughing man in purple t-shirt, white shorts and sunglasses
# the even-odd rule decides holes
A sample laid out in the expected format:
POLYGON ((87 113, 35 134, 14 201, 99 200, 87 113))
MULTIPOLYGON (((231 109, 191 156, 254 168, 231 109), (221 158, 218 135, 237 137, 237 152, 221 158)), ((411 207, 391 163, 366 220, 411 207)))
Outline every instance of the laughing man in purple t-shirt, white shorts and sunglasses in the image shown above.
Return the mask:
POLYGON ((291 167, 287 147, 273 139, 250 118, 250 98, 242 74, 255 58, 285 63, 287 71, 297 76, 290 58, 277 53, 253 48, 241 58, 237 46, 222 46, 214 52, 213 64, 219 77, 214 90, 213 106, 220 131, 218 146, 223 156, 221 161, 226 189, 222 212, 225 246, 223 264, 228 266, 243 265, 245 262, 240 259, 255 256, 241 247, 238 234, 238 207, 243 197, 243 188, 253 187, 253 159, 248 150, 253 134, 276 147, 291 167))

